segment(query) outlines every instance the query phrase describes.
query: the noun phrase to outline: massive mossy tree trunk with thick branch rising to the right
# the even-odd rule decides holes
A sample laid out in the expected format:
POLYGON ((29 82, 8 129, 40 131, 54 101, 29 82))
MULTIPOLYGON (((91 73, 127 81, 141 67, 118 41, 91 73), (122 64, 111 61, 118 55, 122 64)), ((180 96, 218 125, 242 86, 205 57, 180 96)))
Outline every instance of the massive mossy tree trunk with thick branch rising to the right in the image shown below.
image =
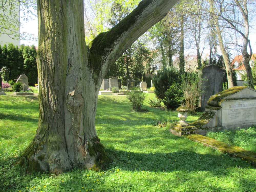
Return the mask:
POLYGON ((38 0, 39 122, 20 164, 56 174, 106 160, 95 131, 101 82, 111 65, 177 0, 143 0, 87 47, 82 0, 38 0))

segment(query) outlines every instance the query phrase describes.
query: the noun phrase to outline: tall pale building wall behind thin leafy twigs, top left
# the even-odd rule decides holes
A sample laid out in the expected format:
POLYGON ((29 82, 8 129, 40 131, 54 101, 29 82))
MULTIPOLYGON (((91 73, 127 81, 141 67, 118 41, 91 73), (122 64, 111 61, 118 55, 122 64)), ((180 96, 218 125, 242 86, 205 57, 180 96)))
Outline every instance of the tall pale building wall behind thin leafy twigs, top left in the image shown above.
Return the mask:
MULTIPOLYGON (((0 15, 1 15, 0 18, 2 19, 2 16, 9 17, 9 20, 12 20, 12 23, 18 24, 18 26, 15 27, 16 29, 13 29, 13 28, 5 29, 6 32, 0 31, 0 45, 3 46, 4 44, 13 43, 14 46, 20 47, 19 2, 17 1, 17 4, 13 4, 13 3, 11 4, 11 6, 13 6, 12 12, 15 13, 12 15, 10 15, 10 11, 9 11, 10 5, 4 5, 4 6, 5 6, 4 8, 2 7, 0 9, 0 15)), ((0 22, 2 22, 2 21, 0 20, 0 22)))

